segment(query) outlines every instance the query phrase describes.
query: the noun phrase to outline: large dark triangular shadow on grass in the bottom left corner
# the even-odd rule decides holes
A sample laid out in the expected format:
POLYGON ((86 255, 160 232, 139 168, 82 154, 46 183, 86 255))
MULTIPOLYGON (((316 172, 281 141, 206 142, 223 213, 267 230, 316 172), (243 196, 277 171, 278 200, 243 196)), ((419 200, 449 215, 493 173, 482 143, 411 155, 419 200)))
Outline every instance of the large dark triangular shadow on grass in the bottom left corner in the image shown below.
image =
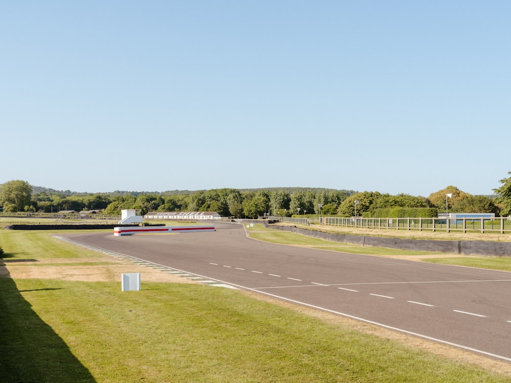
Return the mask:
MULTIPOLYGON (((57 333, 32 310, 0 266, 0 381, 95 382, 57 333)), ((45 290, 45 289, 42 289, 45 290)))

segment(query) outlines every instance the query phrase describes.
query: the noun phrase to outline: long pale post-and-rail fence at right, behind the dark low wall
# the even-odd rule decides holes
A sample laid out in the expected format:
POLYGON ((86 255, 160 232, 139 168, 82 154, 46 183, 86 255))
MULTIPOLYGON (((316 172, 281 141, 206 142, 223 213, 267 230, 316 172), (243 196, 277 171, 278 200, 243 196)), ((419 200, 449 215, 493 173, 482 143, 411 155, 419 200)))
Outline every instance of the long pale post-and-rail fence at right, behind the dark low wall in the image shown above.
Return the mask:
POLYGON ((495 218, 362 218, 362 217, 322 217, 322 225, 359 227, 364 229, 394 230, 445 230, 477 232, 511 232, 511 219, 495 218))

